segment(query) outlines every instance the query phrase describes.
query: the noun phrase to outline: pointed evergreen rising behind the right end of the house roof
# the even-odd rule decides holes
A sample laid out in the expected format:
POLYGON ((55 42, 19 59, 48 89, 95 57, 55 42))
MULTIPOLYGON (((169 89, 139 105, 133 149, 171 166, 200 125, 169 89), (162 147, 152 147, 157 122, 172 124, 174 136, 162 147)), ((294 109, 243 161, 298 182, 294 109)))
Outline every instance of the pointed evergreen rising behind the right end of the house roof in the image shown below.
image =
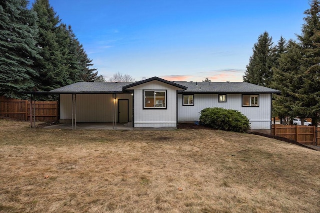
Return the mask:
POLYGON ((253 54, 246 66, 243 76, 244 82, 269 86, 272 79, 272 65, 274 62, 272 37, 263 32, 253 46, 253 54))

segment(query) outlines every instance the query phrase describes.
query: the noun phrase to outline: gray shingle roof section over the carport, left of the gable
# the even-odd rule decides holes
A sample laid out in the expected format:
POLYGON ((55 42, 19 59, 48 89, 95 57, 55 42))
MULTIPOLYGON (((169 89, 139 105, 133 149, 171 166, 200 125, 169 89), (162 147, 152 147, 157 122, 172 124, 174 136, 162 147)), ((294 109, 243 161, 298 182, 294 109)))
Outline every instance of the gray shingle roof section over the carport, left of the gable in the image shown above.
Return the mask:
POLYGON ((114 82, 77 82, 64 87, 53 89, 50 92, 61 93, 112 93, 122 92, 122 87, 131 83, 114 82))

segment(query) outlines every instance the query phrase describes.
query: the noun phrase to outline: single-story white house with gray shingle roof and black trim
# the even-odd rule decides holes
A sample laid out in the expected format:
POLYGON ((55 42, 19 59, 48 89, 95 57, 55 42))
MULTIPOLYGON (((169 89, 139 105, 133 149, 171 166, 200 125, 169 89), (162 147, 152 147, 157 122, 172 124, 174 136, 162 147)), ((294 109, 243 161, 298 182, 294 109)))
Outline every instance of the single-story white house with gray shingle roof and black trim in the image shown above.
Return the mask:
POLYGON ((198 121, 206 107, 235 109, 251 129, 270 129, 271 94, 280 91, 246 82, 78 82, 58 89, 60 122, 114 122, 132 127, 177 127, 198 121))

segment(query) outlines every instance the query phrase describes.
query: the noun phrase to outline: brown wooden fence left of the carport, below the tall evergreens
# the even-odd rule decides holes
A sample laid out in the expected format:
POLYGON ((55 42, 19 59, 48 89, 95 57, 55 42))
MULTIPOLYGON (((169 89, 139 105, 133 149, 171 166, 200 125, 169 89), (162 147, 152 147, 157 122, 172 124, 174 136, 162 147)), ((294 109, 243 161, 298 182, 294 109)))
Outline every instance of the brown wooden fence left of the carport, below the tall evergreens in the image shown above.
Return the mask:
MULTIPOLYGON (((57 121, 58 104, 57 101, 32 101, 32 116, 36 121, 57 121)), ((30 101, 9 99, 0 96, 0 116, 14 118, 18 120, 29 120, 30 101)))

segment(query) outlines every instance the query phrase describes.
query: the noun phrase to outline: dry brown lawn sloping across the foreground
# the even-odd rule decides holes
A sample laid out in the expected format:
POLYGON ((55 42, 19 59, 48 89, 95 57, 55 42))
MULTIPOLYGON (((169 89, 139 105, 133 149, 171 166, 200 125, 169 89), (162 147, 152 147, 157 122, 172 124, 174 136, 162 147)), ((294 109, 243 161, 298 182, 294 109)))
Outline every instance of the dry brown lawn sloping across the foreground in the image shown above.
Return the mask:
POLYGON ((320 152, 215 130, 0 119, 0 212, 320 212, 320 152))

